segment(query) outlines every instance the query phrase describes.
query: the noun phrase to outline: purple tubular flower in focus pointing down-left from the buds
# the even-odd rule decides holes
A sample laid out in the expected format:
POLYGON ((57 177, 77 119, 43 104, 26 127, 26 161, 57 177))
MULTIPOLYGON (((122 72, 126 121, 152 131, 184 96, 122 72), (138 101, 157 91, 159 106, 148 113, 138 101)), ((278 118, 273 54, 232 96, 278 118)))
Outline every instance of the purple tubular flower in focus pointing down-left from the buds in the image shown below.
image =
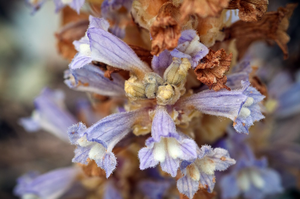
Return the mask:
POLYGON ((111 114, 89 128, 81 122, 70 126, 70 142, 77 145, 72 162, 87 164, 88 158, 95 160, 105 170, 108 178, 117 164, 112 152, 114 146, 131 132, 133 125, 138 119, 145 117, 145 113, 145 109, 140 109, 111 114))

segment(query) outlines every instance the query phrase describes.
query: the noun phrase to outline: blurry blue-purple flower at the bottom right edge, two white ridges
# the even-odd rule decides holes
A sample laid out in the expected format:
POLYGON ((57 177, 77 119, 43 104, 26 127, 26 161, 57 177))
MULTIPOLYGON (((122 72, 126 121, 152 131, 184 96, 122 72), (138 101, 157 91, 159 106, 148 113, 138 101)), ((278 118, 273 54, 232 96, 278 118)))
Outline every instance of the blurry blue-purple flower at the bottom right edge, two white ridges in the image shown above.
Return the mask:
POLYGON ((255 159, 251 150, 229 174, 220 179, 221 197, 236 198, 243 195, 247 199, 262 199, 266 195, 282 192, 280 175, 267 167, 265 158, 255 159))

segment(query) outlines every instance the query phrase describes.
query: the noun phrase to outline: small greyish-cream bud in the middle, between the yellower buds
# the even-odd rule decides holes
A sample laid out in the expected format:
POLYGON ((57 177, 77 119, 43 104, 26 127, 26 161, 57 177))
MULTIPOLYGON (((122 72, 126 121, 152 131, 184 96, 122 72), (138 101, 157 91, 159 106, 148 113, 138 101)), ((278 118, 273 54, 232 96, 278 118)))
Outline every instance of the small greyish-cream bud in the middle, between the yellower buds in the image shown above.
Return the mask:
POLYGON ((164 80, 157 73, 147 73, 144 77, 146 96, 149 99, 154 99, 158 86, 163 85, 164 80))

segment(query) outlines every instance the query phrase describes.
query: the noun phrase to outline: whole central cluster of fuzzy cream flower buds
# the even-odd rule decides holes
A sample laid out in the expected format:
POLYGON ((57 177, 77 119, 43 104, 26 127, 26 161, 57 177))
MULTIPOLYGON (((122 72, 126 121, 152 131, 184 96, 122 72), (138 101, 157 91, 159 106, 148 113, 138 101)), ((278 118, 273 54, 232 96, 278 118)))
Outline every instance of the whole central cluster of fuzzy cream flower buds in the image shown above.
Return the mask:
POLYGON ((164 78, 157 73, 146 73, 140 81, 132 76, 125 81, 125 92, 131 100, 155 99, 159 105, 173 105, 184 93, 184 83, 191 64, 187 58, 174 58, 164 72, 164 78))

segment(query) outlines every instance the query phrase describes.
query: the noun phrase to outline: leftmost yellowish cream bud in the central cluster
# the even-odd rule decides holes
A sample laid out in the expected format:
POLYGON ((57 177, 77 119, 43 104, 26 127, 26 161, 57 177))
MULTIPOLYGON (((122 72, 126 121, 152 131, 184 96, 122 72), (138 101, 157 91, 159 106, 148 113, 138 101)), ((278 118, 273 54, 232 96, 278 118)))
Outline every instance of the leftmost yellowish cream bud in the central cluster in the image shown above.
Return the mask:
POLYGON ((130 98, 146 98, 145 86, 142 82, 138 82, 136 77, 126 80, 124 89, 130 98))

